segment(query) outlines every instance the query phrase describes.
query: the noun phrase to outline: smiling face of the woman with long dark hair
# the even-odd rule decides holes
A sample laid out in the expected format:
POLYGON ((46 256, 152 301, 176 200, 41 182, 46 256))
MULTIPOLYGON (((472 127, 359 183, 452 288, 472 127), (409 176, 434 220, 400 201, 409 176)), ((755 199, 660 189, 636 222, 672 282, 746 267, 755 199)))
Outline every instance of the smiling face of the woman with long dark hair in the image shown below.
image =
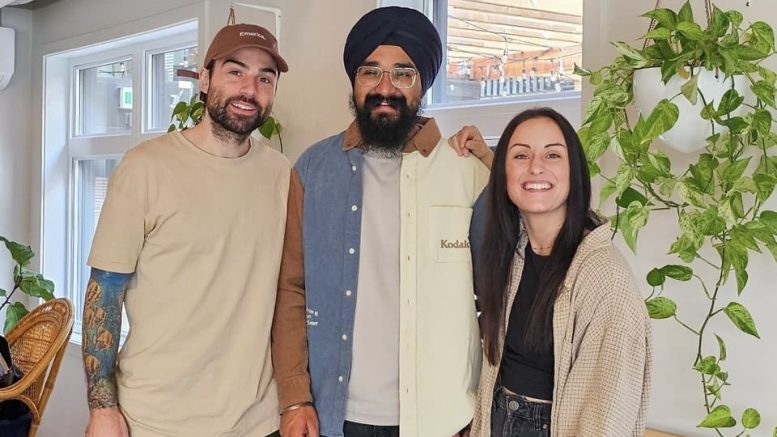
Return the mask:
POLYGON ((508 197, 525 218, 563 223, 569 197, 569 155, 555 121, 537 117, 516 127, 505 172, 508 197))

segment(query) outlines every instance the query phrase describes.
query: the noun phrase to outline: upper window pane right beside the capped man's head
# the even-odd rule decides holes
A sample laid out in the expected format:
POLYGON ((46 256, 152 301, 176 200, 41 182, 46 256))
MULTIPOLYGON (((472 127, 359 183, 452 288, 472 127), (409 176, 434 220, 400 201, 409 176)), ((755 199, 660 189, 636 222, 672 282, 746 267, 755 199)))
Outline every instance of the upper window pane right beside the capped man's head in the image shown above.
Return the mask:
POLYGON ((187 74, 197 72, 197 48, 152 55, 150 65, 148 130, 167 130, 175 105, 199 93, 197 80, 187 74))

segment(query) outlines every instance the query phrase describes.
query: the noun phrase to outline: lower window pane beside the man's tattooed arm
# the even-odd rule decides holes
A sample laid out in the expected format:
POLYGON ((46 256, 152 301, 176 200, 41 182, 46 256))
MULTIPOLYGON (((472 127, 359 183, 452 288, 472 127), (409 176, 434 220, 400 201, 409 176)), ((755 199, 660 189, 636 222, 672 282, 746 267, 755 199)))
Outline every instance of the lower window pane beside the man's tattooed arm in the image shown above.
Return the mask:
MULTIPOLYGON (((86 265, 92 239, 100 218, 105 196, 108 193, 108 179, 119 164, 118 159, 87 159, 76 161, 75 172, 75 277, 73 293, 76 320, 82 320, 84 292, 89 282, 90 267, 86 265)), ((126 325, 126 317, 123 318, 126 325)), ((126 326, 123 326, 126 329, 126 326)))

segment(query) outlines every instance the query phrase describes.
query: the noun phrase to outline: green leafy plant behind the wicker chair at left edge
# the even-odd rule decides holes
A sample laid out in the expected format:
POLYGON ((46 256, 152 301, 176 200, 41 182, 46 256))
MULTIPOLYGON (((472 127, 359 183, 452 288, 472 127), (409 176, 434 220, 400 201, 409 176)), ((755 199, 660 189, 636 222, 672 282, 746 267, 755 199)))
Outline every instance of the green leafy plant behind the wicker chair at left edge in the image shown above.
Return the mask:
POLYGON ((8 240, 7 238, 0 236, 0 241, 5 244, 6 249, 11 254, 11 259, 14 261, 13 269, 13 285, 10 291, 0 288, 0 312, 3 308, 5 311, 5 326, 3 332, 8 333, 19 320, 27 315, 27 307, 22 302, 11 303, 11 298, 17 291, 21 290, 22 293, 43 300, 54 299, 54 283, 44 278, 40 273, 34 273, 27 270, 27 266, 35 256, 30 246, 19 244, 15 241, 8 240))

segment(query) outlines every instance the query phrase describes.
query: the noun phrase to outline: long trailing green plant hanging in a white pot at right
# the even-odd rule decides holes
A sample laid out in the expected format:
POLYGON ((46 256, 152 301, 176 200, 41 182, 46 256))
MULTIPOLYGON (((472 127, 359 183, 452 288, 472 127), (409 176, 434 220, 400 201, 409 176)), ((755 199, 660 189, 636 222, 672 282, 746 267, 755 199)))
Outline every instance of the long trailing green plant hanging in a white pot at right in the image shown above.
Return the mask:
MULTIPOLYGON (((676 217, 678 226, 667 229, 676 238, 667 249, 677 261, 648 273, 647 309, 654 319, 678 323, 693 342, 696 353, 689 366, 705 409, 698 427, 720 436, 732 429, 744 435, 759 426, 760 414, 755 408, 732 411, 723 402, 734 377, 726 371, 726 343, 709 322, 728 318, 739 331, 759 337, 738 297, 759 291, 748 287, 754 252, 777 260, 777 212, 764 206, 777 184, 777 134, 770 112, 777 73, 763 65, 775 54, 774 32, 765 22, 746 24, 740 12, 709 2, 703 24, 694 21, 689 2, 678 11, 656 8, 644 16, 652 19, 645 46, 615 42, 619 55, 610 65, 596 71, 576 68, 595 87, 579 134, 592 176, 603 178, 602 201, 615 199, 613 236, 620 234, 636 253, 639 231, 648 221, 676 217), (640 82, 647 89, 635 90, 635 76, 644 69, 659 74, 652 83, 640 82), (722 94, 700 90, 709 76, 722 84, 722 94), (670 82, 679 82, 679 89, 654 106, 643 104, 637 113, 635 92, 660 94, 670 82), (661 150, 666 142, 661 137, 678 119, 682 125, 699 121, 709 132, 699 144, 686 144, 691 146, 686 151, 700 148, 687 156, 687 166, 673 165, 661 150), (603 174, 598 164, 608 150, 618 163, 613 174, 603 174), (678 308, 664 290, 670 279, 698 282, 699 307, 678 308), (698 325, 683 318, 699 308, 698 325)), ((777 428, 773 432, 777 436, 777 428)))

